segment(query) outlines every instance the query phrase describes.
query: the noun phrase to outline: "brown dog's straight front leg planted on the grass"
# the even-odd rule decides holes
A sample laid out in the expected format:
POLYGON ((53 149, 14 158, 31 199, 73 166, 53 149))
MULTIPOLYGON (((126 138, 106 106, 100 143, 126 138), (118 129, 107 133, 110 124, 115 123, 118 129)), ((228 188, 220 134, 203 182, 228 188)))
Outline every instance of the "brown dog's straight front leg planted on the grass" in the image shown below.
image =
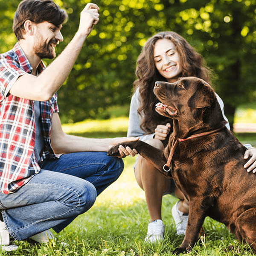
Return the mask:
MULTIPOLYGON (((198 200, 198 199, 197 199, 198 200)), ((198 241, 198 236, 201 227, 204 223, 206 212, 202 210, 201 202, 189 200, 189 218, 186 227, 185 237, 180 247, 177 247, 172 253, 180 254, 192 250, 195 243, 198 241)))

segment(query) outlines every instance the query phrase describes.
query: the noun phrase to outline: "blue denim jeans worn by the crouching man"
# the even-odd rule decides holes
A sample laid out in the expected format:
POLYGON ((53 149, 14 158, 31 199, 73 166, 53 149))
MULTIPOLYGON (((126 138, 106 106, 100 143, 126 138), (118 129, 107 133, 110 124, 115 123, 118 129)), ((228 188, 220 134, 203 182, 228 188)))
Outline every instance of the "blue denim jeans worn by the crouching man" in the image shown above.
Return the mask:
POLYGON ((0 193, 10 235, 23 240, 49 228, 57 233, 93 206, 96 196, 123 170, 122 159, 105 152, 64 154, 44 160, 41 172, 12 194, 0 193))

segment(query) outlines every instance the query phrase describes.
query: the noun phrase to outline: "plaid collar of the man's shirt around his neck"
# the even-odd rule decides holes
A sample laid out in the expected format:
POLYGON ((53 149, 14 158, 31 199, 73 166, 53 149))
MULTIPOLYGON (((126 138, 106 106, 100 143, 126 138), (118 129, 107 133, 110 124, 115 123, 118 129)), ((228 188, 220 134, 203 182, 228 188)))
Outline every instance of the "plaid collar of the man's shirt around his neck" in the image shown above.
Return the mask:
MULTIPOLYGON (((28 60, 28 58, 26 57, 25 53, 23 52, 23 49, 20 47, 19 42, 17 42, 15 44, 15 46, 13 47, 13 50, 15 52, 15 54, 17 55, 17 58, 19 59, 20 65, 22 67, 22 69, 26 72, 26 73, 32 73, 32 66, 28 60)), ((46 68, 45 64, 43 61, 40 61, 38 67, 37 67, 37 73, 41 73, 44 69, 46 68)))

